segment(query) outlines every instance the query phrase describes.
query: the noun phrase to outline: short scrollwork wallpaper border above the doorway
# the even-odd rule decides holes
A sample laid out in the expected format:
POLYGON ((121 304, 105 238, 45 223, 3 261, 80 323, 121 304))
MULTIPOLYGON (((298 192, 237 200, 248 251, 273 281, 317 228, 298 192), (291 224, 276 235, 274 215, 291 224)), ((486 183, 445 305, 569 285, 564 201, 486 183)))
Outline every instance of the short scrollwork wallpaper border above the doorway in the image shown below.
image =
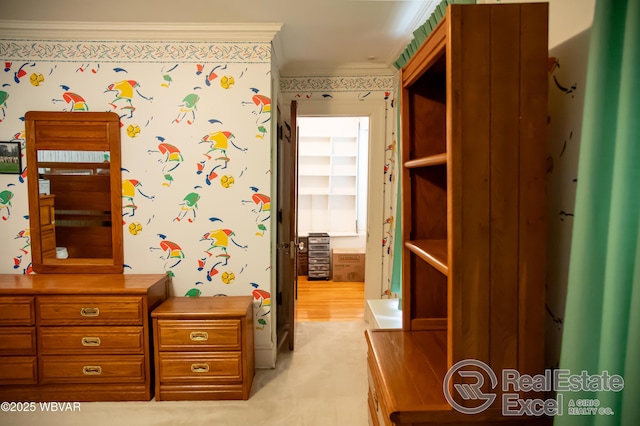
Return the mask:
POLYGON ((287 92, 354 92, 391 91, 396 86, 394 76, 353 77, 280 77, 280 91, 287 92))

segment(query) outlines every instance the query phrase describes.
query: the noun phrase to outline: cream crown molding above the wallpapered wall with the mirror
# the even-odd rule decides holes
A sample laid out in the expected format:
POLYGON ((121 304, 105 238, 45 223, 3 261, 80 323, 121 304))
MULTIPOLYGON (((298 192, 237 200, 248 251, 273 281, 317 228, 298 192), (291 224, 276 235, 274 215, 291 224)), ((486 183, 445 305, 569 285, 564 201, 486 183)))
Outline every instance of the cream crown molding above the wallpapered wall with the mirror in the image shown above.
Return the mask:
POLYGON ((280 23, 194 24, 0 20, 3 39, 271 42, 280 23))

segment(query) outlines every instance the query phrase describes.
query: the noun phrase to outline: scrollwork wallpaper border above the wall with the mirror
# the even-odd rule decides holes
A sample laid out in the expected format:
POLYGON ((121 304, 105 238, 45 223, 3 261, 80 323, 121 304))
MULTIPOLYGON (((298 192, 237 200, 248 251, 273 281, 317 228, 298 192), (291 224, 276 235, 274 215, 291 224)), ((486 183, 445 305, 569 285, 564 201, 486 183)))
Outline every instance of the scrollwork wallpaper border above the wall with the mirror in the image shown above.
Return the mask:
POLYGON ((269 63, 271 44, 256 42, 113 42, 0 40, 5 61, 269 63))

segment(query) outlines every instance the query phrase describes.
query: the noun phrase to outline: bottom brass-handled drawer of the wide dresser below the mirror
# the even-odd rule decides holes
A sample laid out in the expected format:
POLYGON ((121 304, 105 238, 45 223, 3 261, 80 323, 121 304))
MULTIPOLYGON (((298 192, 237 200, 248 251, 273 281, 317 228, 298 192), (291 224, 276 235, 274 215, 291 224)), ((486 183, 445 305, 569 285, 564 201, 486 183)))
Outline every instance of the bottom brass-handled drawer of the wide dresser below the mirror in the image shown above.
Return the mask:
POLYGON ((144 382, 143 355, 44 355, 40 360, 40 383, 144 382))

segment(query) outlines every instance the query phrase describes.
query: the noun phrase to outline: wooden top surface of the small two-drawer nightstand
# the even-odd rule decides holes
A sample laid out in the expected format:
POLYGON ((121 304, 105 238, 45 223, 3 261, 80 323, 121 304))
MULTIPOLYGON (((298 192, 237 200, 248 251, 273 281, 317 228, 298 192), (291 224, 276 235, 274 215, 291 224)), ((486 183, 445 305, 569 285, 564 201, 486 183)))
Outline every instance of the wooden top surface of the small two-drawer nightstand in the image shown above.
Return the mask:
POLYGON ((154 309, 151 316, 159 319, 244 317, 252 300, 252 296, 170 297, 154 309))

